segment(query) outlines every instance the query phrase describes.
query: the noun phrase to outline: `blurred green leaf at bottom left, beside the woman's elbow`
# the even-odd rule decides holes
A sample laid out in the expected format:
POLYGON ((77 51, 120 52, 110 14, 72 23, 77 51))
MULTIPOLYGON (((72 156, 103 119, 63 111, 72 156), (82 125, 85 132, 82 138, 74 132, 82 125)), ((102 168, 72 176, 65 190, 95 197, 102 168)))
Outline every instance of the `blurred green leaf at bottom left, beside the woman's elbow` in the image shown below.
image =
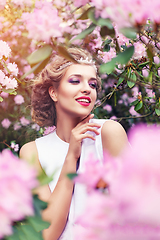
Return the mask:
POLYGON ((49 228, 50 226, 50 223, 43 221, 41 217, 37 216, 28 217, 27 220, 36 232, 40 232, 46 228, 49 228))

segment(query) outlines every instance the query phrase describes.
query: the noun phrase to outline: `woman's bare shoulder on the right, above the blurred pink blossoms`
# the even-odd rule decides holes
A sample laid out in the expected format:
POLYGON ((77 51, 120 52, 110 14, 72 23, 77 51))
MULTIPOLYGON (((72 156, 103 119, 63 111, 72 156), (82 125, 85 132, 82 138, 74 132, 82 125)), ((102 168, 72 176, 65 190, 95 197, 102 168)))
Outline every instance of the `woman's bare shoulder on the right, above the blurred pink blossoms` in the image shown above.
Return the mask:
POLYGON ((128 142, 124 128, 114 120, 106 121, 101 133, 103 149, 113 156, 119 155, 128 142))

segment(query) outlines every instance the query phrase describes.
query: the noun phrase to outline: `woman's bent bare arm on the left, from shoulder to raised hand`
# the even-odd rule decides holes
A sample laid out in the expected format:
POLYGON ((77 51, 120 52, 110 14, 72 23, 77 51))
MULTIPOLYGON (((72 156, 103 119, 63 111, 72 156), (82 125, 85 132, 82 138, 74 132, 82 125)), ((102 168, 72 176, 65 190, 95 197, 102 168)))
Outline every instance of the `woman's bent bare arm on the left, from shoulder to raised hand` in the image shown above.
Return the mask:
MULTIPOLYGON (((70 181, 66 175, 67 173, 76 172, 76 163, 81 154, 82 140, 85 138, 95 140, 92 135, 86 132, 93 131, 96 134, 99 134, 96 128, 100 127, 100 125, 96 123, 88 123, 89 119, 92 117, 93 115, 90 115, 72 130, 68 153, 54 191, 49 193, 48 186, 45 187, 45 189, 38 189, 40 198, 48 202, 48 207, 42 214, 43 219, 51 222, 50 227, 43 232, 45 240, 57 240, 66 225, 74 187, 73 182, 70 181), (47 197, 44 195, 45 193, 47 197)), ((20 151, 20 156, 30 161, 30 158, 32 157, 30 155, 31 152, 32 156, 36 156, 36 168, 40 169, 40 163, 34 142, 24 145, 20 151)))

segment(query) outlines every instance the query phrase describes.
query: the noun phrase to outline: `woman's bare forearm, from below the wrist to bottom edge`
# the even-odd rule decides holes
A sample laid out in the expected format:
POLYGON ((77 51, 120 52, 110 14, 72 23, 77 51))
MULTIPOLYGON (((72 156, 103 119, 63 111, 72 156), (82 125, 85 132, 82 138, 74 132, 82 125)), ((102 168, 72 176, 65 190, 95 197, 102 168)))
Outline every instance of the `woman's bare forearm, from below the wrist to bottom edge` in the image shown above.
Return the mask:
POLYGON ((51 223, 50 227, 44 230, 45 240, 57 240, 66 225, 74 187, 67 174, 75 171, 76 161, 67 156, 57 185, 48 200, 48 208, 43 211, 43 219, 51 223))

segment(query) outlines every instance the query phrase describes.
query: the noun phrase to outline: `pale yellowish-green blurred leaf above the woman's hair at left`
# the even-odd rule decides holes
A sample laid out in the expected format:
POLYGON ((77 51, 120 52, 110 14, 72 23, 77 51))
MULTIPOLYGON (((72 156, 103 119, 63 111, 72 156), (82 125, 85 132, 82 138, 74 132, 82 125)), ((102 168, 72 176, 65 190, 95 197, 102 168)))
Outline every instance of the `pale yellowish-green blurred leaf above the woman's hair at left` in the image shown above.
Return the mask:
POLYGON ((37 49, 33 53, 31 53, 27 57, 27 61, 30 65, 37 64, 47 58, 49 58, 52 54, 52 47, 48 44, 44 45, 43 47, 37 49))

